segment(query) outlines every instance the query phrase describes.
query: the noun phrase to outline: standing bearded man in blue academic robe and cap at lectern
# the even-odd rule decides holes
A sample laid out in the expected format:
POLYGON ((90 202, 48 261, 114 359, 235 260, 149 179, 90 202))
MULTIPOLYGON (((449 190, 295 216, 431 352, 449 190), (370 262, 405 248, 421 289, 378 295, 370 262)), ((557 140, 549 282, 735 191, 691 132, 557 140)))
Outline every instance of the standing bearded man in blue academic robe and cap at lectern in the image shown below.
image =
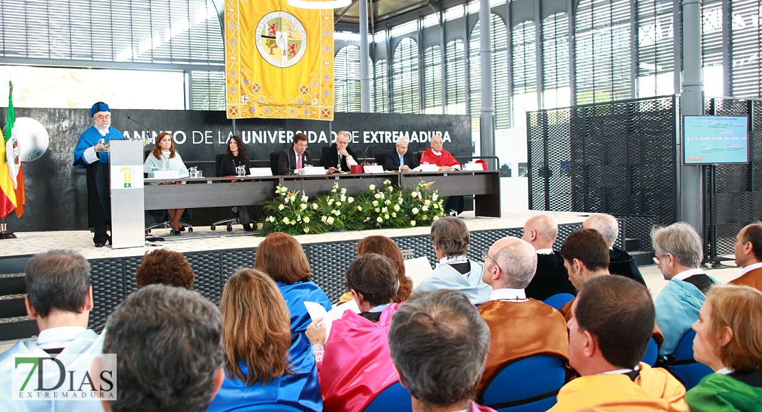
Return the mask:
POLYGON ((96 248, 110 243, 107 228, 111 222, 111 196, 109 190, 109 153, 106 145, 112 139, 126 139, 111 127, 111 111, 102 101, 90 109, 93 125, 79 136, 74 149, 74 167, 88 172, 88 227, 94 228, 96 248))

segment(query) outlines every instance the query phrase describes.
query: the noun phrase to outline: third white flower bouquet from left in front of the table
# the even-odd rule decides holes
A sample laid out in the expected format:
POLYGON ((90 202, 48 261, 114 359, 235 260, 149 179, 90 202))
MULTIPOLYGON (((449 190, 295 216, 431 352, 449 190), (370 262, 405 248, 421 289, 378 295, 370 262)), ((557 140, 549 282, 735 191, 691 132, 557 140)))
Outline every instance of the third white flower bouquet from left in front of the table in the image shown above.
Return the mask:
POLYGON ((357 212, 363 213, 367 228, 407 228, 409 216, 402 212, 402 190, 395 189, 389 179, 383 181, 383 187, 371 184, 360 196, 357 212))

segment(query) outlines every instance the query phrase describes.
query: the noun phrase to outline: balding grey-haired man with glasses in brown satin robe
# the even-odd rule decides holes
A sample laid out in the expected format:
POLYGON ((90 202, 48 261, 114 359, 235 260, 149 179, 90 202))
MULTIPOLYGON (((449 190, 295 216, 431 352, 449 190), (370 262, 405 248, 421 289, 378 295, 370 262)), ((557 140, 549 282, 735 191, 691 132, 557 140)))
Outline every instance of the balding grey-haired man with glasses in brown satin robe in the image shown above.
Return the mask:
POLYGON ((479 397, 514 360, 548 355, 568 362, 569 357, 564 317, 543 302, 528 299, 524 292, 537 265, 532 245, 520 238, 502 238, 482 257, 482 280, 492 286, 492 294, 478 308, 490 331, 487 365, 476 391, 479 397))

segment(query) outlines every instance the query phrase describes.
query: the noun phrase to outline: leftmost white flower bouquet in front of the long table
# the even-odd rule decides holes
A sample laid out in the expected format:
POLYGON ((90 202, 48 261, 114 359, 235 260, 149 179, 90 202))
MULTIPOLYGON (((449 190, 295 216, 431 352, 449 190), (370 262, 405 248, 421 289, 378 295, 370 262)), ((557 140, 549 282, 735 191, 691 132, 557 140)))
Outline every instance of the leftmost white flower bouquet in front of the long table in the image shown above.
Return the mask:
POLYGON ((289 192, 287 187, 275 188, 274 200, 262 203, 264 219, 261 235, 283 232, 289 235, 320 234, 327 230, 320 221, 320 206, 308 202, 306 194, 289 192))

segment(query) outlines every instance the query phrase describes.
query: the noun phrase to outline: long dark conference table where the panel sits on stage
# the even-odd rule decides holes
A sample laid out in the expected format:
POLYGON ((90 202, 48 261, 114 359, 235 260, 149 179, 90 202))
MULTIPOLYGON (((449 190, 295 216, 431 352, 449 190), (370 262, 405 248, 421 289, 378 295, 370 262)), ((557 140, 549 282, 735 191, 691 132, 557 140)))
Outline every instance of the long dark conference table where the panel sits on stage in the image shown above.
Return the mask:
POLYGON ((412 187, 421 180, 434 182, 430 190, 440 196, 474 195, 475 215, 500 217, 500 171, 434 171, 404 173, 361 173, 286 175, 267 177, 198 177, 184 178, 187 184, 157 184, 178 179, 145 179, 146 210, 182 209, 220 206, 249 206, 271 200, 276 186, 304 190, 307 196, 328 194, 338 181, 347 196, 357 196, 371 184, 383 187, 384 180, 395 187, 412 187), (241 180, 236 181, 232 180, 241 180))

